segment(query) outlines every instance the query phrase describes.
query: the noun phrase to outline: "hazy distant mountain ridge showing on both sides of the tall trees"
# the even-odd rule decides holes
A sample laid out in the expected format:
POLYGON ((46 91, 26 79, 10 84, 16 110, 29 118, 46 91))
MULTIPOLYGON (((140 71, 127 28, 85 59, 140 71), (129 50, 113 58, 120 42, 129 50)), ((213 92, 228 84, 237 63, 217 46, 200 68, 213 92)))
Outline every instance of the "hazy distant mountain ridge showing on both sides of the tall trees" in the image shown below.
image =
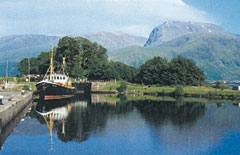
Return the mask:
MULTIPOLYGON (((143 46, 147 38, 131 36, 125 33, 102 32, 85 35, 87 39, 102 44, 109 51, 129 45, 143 46)), ((0 37, 0 62, 19 62, 26 57, 36 57, 42 51, 48 51, 56 45, 59 36, 47 35, 11 35, 0 37)))

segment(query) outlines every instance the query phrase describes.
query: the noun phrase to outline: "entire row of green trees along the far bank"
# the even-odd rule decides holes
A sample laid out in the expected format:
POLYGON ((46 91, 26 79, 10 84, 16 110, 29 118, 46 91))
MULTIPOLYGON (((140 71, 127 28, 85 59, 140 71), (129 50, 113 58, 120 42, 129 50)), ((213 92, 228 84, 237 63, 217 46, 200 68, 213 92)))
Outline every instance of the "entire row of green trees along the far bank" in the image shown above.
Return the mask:
MULTIPOLYGON (((61 69, 62 58, 65 57, 66 72, 73 78, 116 79, 148 85, 200 85, 205 81, 203 71, 192 60, 180 56, 170 62, 154 57, 136 69, 121 62, 109 61, 104 47, 82 37, 65 36, 53 50, 55 72, 61 69)), ((41 52, 37 57, 30 58, 31 74, 45 75, 50 53, 41 52)), ((21 75, 28 74, 28 58, 18 63, 18 70, 21 75)))

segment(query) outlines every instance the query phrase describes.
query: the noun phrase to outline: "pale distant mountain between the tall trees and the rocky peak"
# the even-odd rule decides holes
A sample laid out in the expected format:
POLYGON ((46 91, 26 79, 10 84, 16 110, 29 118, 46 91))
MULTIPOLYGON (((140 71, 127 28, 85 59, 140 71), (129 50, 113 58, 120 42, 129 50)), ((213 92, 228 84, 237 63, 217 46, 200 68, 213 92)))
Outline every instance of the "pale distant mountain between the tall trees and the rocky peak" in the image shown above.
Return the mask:
POLYGON ((108 52, 124 48, 131 45, 143 46, 147 38, 132 36, 126 33, 100 32, 95 34, 86 34, 83 37, 91 42, 97 42, 108 49, 108 52))

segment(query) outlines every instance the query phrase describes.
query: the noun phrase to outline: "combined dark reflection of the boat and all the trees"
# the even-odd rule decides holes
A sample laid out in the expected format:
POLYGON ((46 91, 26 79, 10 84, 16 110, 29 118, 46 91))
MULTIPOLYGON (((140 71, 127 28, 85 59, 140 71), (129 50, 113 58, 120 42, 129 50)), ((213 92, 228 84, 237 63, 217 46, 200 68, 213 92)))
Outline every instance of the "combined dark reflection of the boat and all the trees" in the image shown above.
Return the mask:
POLYGON ((177 126, 192 125, 205 112, 205 104, 138 100, 128 101, 126 96, 119 96, 118 101, 92 97, 89 100, 48 101, 39 102, 36 106, 36 118, 46 124, 52 138, 52 130, 57 131, 58 138, 63 142, 81 143, 91 135, 104 132, 107 121, 114 115, 124 115, 137 109, 143 118, 153 126, 160 127, 171 121, 177 126), (93 99, 96 98, 96 101, 93 99), (41 117, 39 117, 41 116, 41 117))

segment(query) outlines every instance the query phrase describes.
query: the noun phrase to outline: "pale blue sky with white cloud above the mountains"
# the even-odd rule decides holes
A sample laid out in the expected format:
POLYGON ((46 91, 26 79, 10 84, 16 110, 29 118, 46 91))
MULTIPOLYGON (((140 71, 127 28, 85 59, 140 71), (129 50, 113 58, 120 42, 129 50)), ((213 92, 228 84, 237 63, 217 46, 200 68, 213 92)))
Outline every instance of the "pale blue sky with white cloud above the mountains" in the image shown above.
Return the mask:
POLYGON ((239 0, 1 0, 0 37, 124 32, 149 36, 165 21, 214 23, 240 34, 239 0))

